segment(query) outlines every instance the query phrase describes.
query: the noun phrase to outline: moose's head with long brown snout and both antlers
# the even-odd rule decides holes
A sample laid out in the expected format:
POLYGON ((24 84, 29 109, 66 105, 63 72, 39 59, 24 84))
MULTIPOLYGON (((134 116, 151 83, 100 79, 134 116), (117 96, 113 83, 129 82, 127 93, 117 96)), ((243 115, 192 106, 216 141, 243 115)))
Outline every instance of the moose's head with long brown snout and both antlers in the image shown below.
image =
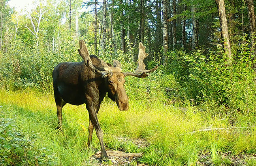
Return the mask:
MULTIPOLYGON (((128 97, 124 89, 124 83, 126 76, 135 76, 139 78, 145 78, 148 76, 147 73, 156 70, 158 66, 155 66, 151 70, 146 70, 146 65, 144 64, 144 59, 149 55, 145 53, 145 46, 140 42, 139 43, 139 55, 138 55, 138 65, 135 72, 122 72, 121 64, 119 61, 114 60, 113 66, 107 65, 104 61, 100 60, 102 65, 101 70, 97 69, 90 59, 90 54, 88 52, 87 46, 84 41, 79 41, 80 49, 78 52, 80 56, 84 59, 85 64, 93 70, 95 73, 98 73, 103 78, 106 78, 107 87, 108 87, 108 97, 113 101, 117 102, 117 106, 120 111, 125 111, 129 109, 128 97)), ((95 63, 94 63, 95 64, 95 63)), ((98 65, 99 67, 99 65, 98 65)))

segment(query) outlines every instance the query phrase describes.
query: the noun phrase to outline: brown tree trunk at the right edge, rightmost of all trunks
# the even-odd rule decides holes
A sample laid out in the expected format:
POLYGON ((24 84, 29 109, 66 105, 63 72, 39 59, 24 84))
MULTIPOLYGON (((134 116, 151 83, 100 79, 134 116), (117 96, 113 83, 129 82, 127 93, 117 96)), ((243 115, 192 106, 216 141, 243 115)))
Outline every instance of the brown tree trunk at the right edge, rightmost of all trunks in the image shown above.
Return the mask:
MULTIPOLYGON (((253 0, 247 0, 246 3, 247 3, 247 9, 248 9, 252 54, 255 55, 256 54, 256 45, 255 45, 256 25, 255 25, 254 4, 253 4, 253 0)), ((254 70, 256 70, 256 64, 254 65, 254 70)))

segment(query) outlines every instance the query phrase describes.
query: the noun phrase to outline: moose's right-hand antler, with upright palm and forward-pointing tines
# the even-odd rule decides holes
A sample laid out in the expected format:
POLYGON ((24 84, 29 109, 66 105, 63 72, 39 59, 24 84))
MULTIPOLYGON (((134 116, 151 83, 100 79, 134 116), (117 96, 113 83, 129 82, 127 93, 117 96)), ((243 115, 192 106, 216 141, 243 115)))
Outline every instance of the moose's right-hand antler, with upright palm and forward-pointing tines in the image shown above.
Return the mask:
POLYGON ((143 46, 143 44, 140 42, 139 43, 139 55, 138 55, 138 66, 134 72, 127 72, 124 73, 124 76, 135 76, 139 78, 145 78, 148 76, 147 73, 153 72, 158 68, 156 65, 154 68, 151 70, 146 70, 145 67, 146 65, 144 64, 144 59, 149 55, 148 53, 145 52, 146 46, 143 46))

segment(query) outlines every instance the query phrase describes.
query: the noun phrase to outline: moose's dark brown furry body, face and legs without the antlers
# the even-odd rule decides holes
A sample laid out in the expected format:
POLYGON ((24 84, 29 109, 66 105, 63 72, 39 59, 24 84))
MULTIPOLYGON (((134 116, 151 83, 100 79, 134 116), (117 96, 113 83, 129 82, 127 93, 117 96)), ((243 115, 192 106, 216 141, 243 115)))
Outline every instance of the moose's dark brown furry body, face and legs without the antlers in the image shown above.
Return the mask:
MULTIPOLYGON (((104 68, 96 56, 90 55, 90 59, 98 70, 104 68)), ((88 146, 91 144, 92 132, 95 128, 100 140, 102 158, 107 158, 107 153, 104 148, 103 134, 97 113, 106 93, 108 92, 109 98, 117 102, 120 110, 128 110, 128 97, 123 87, 124 74, 120 72, 120 68, 111 68, 113 72, 106 77, 93 72, 85 65, 84 61, 60 63, 53 70, 53 90, 59 120, 58 128, 61 128, 62 125, 62 107, 66 103, 72 105, 85 103, 90 117, 88 146)))

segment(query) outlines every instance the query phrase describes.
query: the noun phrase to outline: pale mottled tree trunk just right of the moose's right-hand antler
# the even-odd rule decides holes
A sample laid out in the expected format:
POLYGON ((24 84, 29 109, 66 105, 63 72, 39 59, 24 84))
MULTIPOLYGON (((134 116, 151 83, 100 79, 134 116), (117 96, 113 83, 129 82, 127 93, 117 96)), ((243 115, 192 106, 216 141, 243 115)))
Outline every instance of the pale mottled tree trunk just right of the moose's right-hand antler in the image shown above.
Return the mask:
POLYGON ((163 25, 163 65, 166 63, 166 53, 168 51, 168 26, 167 26, 167 0, 162 0, 162 25, 163 25))

